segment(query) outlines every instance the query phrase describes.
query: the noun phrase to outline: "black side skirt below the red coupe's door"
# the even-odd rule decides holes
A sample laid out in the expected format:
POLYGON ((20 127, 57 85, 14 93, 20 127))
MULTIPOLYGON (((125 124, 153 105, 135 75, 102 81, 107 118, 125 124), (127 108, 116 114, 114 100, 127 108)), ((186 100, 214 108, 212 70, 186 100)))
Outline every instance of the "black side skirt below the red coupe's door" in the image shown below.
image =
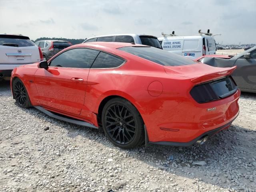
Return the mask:
POLYGON ((62 121, 66 121, 66 122, 69 122, 69 123, 73 123, 73 124, 77 124, 77 125, 82 125, 82 126, 86 126, 86 127, 90 127, 90 128, 94 128, 94 129, 98 129, 98 127, 94 126, 93 124, 90 124, 88 122, 85 122, 85 121, 80 121, 80 120, 74 120, 74 119, 70 119, 70 118, 67 118, 67 117, 62 117, 62 116, 58 116, 40 106, 34 106, 34 108, 40 110, 41 112, 45 113, 46 115, 52 117, 52 118, 55 118, 55 119, 58 119, 58 120, 62 120, 62 121))

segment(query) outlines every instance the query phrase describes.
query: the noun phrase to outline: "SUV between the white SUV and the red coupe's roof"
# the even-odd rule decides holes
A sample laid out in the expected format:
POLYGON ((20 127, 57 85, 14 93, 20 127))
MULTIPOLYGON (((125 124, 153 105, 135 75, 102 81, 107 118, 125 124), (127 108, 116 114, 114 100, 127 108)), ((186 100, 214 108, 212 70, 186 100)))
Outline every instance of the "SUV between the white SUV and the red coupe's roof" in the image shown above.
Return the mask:
POLYGON ((41 48, 44 60, 47 61, 56 53, 71 46, 72 44, 68 41, 61 40, 42 40, 37 41, 36 45, 41 48))

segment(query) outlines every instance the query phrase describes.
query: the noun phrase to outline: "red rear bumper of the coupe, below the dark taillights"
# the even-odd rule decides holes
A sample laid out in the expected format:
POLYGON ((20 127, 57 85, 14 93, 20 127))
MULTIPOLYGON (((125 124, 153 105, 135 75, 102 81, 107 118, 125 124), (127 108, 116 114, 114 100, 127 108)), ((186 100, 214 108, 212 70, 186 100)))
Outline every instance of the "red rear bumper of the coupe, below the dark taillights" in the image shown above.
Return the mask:
POLYGON ((148 111, 143 115, 148 140, 156 144, 190 146, 212 130, 228 128, 238 116, 239 96, 240 90, 237 90, 222 100, 203 104, 192 100, 180 102, 172 110, 148 111))

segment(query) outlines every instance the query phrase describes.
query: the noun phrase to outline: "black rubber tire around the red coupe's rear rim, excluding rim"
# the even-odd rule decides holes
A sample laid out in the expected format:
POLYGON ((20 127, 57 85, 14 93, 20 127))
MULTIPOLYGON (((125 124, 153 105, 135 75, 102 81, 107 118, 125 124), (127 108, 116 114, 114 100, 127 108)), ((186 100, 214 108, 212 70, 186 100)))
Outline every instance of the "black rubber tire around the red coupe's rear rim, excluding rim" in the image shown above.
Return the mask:
POLYGON ((109 100, 105 104, 105 106, 102 110, 102 127, 103 127, 104 133, 106 134, 108 140, 110 140, 115 146, 118 146, 120 148, 124 148, 124 149, 135 148, 135 147, 139 146, 144 141, 144 140, 142 140, 144 138, 144 122, 140 116, 140 113, 132 105, 132 103, 130 103, 128 100, 125 100, 123 98, 114 98, 114 99, 109 100), (136 122, 136 132, 135 132, 135 136, 134 136, 133 140, 131 142, 129 142, 128 144, 122 145, 122 144, 116 143, 114 140, 112 140, 112 138, 108 135, 108 133, 106 131, 105 115, 106 115, 107 109, 113 104, 122 104, 122 105, 126 106, 128 108, 128 110, 130 110, 132 115, 134 116, 134 119, 136 122))

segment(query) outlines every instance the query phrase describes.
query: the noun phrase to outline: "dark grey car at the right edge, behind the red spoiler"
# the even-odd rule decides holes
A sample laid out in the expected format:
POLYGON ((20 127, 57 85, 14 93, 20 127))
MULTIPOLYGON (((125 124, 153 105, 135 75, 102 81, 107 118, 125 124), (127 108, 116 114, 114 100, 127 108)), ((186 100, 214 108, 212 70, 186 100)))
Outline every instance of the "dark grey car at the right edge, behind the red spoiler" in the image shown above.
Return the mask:
POLYGON ((237 66, 232 77, 238 87, 244 92, 256 93, 256 46, 236 56, 208 55, 196 61, 214 67, 237 66))

